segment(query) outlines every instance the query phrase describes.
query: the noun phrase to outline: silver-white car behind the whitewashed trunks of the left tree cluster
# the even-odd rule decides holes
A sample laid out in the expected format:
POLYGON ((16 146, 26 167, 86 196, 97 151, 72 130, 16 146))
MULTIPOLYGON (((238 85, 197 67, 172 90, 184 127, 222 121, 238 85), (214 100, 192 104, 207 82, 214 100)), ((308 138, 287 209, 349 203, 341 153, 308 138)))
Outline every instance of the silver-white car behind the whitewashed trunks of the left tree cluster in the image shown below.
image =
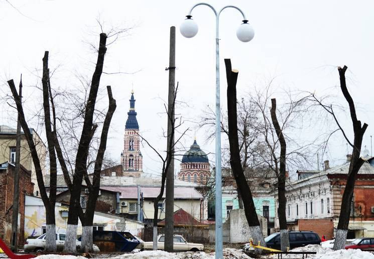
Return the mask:
MULTIPOLYGON (((56 248, 57 251, 62 251, 65 245, 65 234, 56 233, 56 248)), ((46 234, 42 234, 36 239, 29 238, 26 240, 26 244, 24 245, 25 251, 28 252, 42 252, 46 245, 46 234)), ((80 241, 77 240, 77 249, 80 249, 80 241)), ((97 245, 93 245, 93 251, 99 252, 100 249, 97 245)))

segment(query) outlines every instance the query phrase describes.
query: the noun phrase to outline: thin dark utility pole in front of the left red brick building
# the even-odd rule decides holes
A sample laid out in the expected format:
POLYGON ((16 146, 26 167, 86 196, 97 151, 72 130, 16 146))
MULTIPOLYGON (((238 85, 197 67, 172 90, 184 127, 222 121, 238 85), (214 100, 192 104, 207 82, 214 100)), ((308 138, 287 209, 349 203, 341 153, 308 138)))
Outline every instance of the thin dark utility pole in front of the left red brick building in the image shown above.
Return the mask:
MULTIPOLYGON (((20 82, 20 100, 22 101, 22 75, 20 82)), ((12 215, 12 242, 11 247, 17 252, 17 233, 18 233, 18 207, 20 204, 20 157, 21 157, 21 123, 20 115, 17 115, 17 139, 16 139, 16 171, 14 172, 14 189, 13 189, 13 215, 12 215)))

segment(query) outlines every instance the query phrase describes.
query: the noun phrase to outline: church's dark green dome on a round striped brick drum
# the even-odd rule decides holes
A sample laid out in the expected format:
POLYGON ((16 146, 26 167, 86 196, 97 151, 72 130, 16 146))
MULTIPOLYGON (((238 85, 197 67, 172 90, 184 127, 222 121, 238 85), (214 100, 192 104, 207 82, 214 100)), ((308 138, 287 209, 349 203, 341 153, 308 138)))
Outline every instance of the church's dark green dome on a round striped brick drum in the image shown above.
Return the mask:
POLYGON ((197 145, 196 139, 182 158, 178 178, 187 182, 205 185, 210 177, 208 156, 197 145))

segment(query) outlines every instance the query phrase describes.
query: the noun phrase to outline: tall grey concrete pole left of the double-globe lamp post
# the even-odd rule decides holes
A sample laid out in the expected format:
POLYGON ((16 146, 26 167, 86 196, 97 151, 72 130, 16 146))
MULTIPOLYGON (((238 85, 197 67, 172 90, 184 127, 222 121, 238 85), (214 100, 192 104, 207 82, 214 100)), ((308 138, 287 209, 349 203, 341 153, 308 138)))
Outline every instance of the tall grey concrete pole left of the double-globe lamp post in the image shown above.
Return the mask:
MULTIPOLYGON (((169 53, 169 93, 168 93, 168 140, 167 151, 172 145, 172 152, 169 156, 174 156, 174 137, 172 121, 174 121, 174 95, 175 95, 175 27, 170 27, 170 53, 169 53), (171 144, 170 144, 171 143, 171 144)), ((174 105, 175 106, 175 105, 174 105)), ((171 159, 168 172, 166 173, 166 201, 165 201, 165 251, 172 252, 174 235, 174 157, 171 159)))

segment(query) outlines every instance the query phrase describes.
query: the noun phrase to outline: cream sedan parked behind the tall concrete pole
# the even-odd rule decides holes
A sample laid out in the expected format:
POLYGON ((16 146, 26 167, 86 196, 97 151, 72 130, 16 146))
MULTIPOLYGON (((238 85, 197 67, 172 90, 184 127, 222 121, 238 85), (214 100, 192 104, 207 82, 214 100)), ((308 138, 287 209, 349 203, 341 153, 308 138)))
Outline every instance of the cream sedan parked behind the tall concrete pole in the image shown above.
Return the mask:
MULTIPOLYGON (((202 251, 204 250, 203 244, 189 243, 182 235, 174 235, 174 245, 173 248, 177 252, 182 251, 202 251)), ((157 236, 157 249, 164 250, 165 235, 157 236)), ((144 242, 143 248, 141 250, 152 250, 153 242, 144 242)))

